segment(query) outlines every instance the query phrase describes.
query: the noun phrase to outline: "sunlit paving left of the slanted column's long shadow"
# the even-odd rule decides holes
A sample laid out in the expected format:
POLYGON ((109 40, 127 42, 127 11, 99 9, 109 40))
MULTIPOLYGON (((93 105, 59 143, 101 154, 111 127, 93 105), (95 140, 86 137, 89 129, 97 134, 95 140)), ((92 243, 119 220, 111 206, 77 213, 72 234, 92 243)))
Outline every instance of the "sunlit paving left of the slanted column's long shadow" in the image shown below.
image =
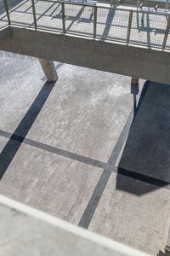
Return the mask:
POLYGON ((44 74, 37 60, 30 62, 26 57, 3 52, 0 69, 0 129, 13 133, 41 90, 44 74))

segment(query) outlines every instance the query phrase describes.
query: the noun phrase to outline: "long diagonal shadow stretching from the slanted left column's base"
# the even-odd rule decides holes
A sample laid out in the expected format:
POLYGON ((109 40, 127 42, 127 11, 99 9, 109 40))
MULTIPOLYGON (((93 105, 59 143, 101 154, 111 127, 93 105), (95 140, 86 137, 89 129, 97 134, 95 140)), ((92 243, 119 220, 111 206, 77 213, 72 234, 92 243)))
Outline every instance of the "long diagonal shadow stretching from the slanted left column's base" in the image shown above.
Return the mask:
POLYGON ((31 107, 27 111, 24 118, 20 121, 20 125, 14 131, 14 134, 9 138, 8 143, 3 148, 0 154, 0 179, 3 177, 4 173, 7 171, 8 166, 14 159, 14 155, 19 150, 21 144, 23 143, 27 133, 30 131, 31 126, 37 119, 37 115, 40 113, 44 103, 48 99, 51 90, 54 88, 55 83, 46 82, 42 86, 42 90, 38 93, 36 99, 31 104, 31 107))

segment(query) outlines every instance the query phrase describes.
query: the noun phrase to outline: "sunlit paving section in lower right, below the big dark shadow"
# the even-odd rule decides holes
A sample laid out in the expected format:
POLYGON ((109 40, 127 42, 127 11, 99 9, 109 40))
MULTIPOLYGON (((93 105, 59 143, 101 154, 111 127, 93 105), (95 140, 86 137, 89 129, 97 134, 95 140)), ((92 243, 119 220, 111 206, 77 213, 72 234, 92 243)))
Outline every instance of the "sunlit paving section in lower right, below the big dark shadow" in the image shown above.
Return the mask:
POLYGON ((116 188, 117 176, 112 173, 88 230, 157 255, 167 242, 170 190, 121 175, 119 181, 122 190, 116 188), (152 192, 138 196, 127 193, 126 187, 152 192))

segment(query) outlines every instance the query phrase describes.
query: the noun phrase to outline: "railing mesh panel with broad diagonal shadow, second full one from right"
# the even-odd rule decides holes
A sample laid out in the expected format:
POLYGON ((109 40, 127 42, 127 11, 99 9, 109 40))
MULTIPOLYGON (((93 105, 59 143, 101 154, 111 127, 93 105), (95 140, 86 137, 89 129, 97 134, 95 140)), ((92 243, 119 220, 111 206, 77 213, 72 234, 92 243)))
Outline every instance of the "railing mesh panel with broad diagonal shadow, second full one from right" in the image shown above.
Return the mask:
POLYGON ((98 8, 97 38, 125 42, 129 12, 121 9, 98 8))

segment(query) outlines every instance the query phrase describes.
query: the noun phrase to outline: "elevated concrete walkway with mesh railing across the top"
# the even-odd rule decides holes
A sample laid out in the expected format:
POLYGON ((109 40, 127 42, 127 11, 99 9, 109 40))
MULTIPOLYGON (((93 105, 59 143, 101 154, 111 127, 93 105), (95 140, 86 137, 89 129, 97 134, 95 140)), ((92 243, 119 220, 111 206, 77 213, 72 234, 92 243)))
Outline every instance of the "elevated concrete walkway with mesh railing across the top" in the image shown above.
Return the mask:
POLYGON ((12 8, 6 2, 6 10, 0 20, 12 37, 0 44, 2 50, 170 81, 168 11, 44 0, 22 1, 12 8))

